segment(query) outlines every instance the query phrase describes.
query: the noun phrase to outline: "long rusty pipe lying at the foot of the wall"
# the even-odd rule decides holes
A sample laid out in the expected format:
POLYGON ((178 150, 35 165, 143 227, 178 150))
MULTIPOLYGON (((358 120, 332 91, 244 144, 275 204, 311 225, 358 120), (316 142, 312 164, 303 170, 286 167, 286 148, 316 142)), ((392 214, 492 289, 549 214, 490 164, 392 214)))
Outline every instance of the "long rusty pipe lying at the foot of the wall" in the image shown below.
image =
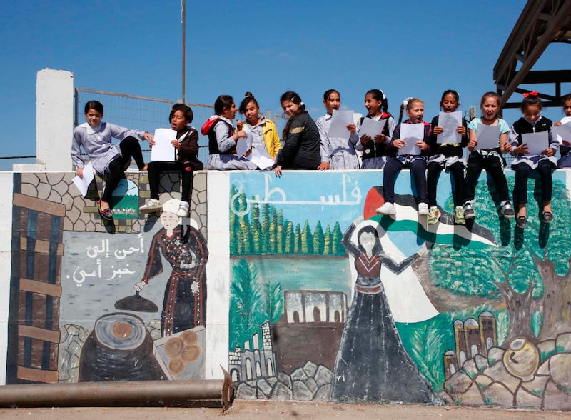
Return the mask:
POLYGON ((0 386, 0 407, 101 406, 156 401, 221 401, 230 408, 233 384, 224 379, 201 381, 120 381, 77 384, 21 384, 0 386))

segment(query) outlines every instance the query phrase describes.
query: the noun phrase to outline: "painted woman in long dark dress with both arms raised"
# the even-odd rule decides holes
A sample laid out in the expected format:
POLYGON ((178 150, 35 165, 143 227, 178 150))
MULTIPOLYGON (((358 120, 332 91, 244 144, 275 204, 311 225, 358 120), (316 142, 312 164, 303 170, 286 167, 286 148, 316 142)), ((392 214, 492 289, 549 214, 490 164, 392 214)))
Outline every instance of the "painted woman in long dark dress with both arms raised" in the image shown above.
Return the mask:
POLYGON ((378 228, 365 223, 358 230, 357 245, 352 239, 355 224, 343 235, 343 246, 355 257, 357 281, 335 360, 331 399, 434 402, 433 389, 400 340, 380 281, 382 266, 400 274, 426 246, 397 263, 383 250, 378 228))

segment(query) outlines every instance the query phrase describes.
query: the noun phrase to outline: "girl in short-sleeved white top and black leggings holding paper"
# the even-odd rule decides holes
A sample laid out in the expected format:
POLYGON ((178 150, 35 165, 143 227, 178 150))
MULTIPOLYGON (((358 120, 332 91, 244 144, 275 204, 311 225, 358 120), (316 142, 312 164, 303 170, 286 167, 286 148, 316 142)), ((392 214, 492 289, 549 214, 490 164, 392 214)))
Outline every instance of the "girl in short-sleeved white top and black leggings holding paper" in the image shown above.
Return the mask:
POLYGON ((468 169, 466 171, 465 219, 471 219, 476 215, 474 194, 482 169, 485 169, 487 174, 492 177, 500 199, 500 211, 503 216, 506 219, 512 219, 515 216, 510 195, 507 191, 507 181, 503 171, 505 161, 502 157, 502 154, 512 150, 512 145, 507 142, 507 132, 510 131, 510 127, 507 126, 503 119, 497 116, 498 111, 500 111, 500 100, 500 95, 495 92, 485 93, 480 101, 482 116, 473 119, 468 124, 468 138, 470 139, 468 141, 468 151, 470 151, 470 155, 468 156, 468 169), (478 126, 498 126, 499 138, 497 146, 477 149, 478 126))

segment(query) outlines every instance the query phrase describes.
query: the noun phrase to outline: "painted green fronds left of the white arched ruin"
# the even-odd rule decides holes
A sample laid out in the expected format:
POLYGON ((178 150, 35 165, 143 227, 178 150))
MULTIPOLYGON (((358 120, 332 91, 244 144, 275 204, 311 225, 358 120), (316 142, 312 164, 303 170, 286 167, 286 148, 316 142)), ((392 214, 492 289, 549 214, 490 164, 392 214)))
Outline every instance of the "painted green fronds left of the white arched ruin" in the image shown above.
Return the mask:
POLYGON ((258 279, 256 264, 240 259, 232 267, 230 349, 242 346, 261 324, 274 324, 283 312, 283 291, 277 281, 258 279))

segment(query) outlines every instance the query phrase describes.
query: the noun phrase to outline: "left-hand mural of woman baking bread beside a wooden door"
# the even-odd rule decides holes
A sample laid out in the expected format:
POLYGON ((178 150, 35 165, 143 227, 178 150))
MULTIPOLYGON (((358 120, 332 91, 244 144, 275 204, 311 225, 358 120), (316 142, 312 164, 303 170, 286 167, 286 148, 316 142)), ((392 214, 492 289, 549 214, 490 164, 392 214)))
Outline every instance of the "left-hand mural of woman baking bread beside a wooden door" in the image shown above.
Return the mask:
POLYGON ((144 216, 146 174, 128 174, 103 223, 100 179, 84 198, 70 174, 14 174, 6 384, 204 379, 206 174, 185 219, 171 176, 144 216))

